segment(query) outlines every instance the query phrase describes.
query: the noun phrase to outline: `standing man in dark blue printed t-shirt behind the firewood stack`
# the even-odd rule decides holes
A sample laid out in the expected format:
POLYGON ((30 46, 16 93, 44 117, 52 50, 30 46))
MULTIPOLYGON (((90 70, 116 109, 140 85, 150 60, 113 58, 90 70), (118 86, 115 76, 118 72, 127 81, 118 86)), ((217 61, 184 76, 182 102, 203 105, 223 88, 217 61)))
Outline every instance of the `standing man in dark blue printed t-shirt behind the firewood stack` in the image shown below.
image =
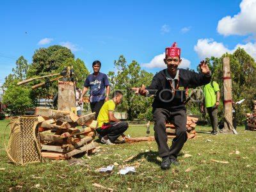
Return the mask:
POLYGON ((79 102, 83 102, 83 96, 88 91, 88 88, 90 88, 90 106, 92 112, 95 112, 95 120, 98 117, 100 108, 103 106, 104 101, 108 100, 109 95, 108 76, 100 72, 100 67, 100 61, 93 61, 93 74, 90 74, 88 77, 86 77, 84 81, 83 93, 81 94, 79 100, 79 102))

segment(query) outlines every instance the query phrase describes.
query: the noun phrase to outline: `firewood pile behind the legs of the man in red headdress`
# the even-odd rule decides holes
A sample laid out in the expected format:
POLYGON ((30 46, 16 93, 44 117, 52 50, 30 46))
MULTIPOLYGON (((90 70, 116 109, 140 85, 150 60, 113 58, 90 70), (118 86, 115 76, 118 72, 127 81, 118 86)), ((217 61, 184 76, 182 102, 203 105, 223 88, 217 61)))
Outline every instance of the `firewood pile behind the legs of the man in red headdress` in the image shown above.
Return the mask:
MULTIPOLYGON (((188 139, 195 138, 196 136, 196 122, 198 122, 198 118, 187 116, 187 134, 188 139)), ((176 135, 176 127, 175 125, 168 123, 166 124, 166 132, 168 134, 168 138, 174 138, 176 135)))

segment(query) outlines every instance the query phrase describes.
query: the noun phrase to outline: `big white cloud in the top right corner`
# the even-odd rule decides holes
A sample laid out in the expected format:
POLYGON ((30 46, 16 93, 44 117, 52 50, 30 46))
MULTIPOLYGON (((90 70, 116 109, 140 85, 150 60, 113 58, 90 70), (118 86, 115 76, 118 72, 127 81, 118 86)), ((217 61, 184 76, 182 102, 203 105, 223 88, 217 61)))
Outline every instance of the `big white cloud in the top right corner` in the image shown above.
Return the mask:
POLYGON ((225 36, 256 34, 256 0, 243 0, 240 9, 234 17, 228 15, 219 20, 218 33, 225 36))

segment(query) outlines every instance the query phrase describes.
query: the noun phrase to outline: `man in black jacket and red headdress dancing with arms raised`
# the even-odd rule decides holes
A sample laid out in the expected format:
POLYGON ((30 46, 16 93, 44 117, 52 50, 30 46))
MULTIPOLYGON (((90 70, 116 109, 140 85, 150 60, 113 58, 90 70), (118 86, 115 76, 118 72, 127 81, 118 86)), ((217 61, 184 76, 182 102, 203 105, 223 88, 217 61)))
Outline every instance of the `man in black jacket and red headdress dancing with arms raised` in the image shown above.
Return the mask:
POLYGON ((165 50, 164 63, 167 68, 158 72, 152 79, 150 86, 145 88, 132 88, 136 94, 150 96, 154 95, 153 117, 155 138, 159 150, 159 156, 163 161, 161 168, 168 169, 171 164, 179 164, 177 156, 186 142, 186 89, 202 86, 211 81, 211 72, 205 61, 200 62, 201 74, 190 70, 178 68, 181 63, 180 48, 174 43, 172 47, 165 50), (172 146, 167 145, 166 120, 173 120, 177 127, 176 137, 172 146))

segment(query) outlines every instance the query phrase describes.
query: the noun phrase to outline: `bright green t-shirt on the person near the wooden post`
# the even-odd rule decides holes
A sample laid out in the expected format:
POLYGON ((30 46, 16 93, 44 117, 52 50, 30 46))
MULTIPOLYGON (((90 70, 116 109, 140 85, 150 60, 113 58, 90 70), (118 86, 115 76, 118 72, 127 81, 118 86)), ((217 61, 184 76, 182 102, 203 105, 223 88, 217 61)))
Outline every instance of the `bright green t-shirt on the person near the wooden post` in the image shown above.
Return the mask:
POLYGON ((216 103, 216 92, 220 91, 218 83, 212 81, 204 86, 205 108, 211 108, 216 103))

